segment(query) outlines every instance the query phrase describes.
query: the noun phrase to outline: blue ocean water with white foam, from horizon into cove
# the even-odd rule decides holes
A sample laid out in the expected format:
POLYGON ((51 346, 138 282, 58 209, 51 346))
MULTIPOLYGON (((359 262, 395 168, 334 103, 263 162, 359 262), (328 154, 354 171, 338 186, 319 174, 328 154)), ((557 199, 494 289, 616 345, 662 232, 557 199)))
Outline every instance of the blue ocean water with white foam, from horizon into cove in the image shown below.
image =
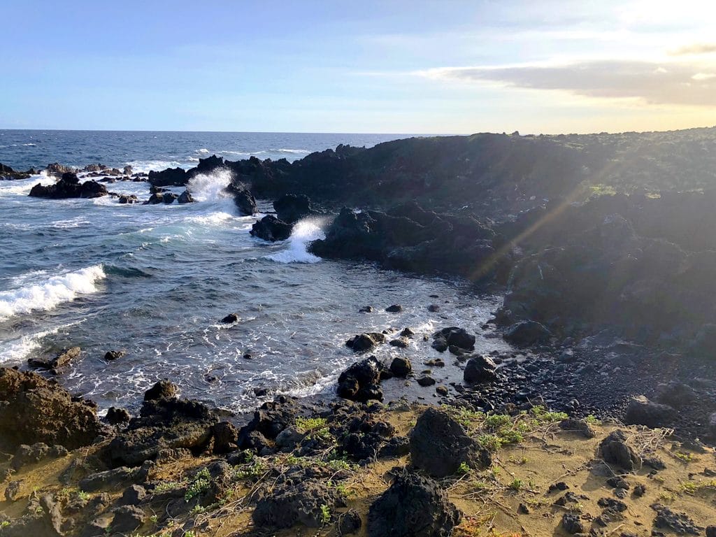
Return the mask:
MULTIPOLYGON (((14 168, 129 163, 148 170, 188 167, 201 155, 228 156, 231 150, 296 158, 337 143, 371 145, 386 138, 47 132, 2 131, 0 162, 14 168)), ((300 222, 281 243, 252 238, 248 231, 261 215, 238 216, 223 191, 229 179, 225 170, 194 178, 189 188, 197 201, 188 205, 43 200, 27 194, 32 185, 54 180, 47 175, 0 181, 0 364, 26 367, 30 357, 79 345, 81 357, 58 380, 103 409, 136 407, 143 390, 169 378, 186 397, 242 411, 278 393, 331 394, 337 374, 355 359, 344 342, 359 332, 410 326, 417 332, 410 349, 386 344, 376 354, 390 360, 407 353, 418 370, 439 356, 423 336, 452 325, 481 334, 496 302, 475 296, 465 282, 307 253, 325 220, 300 222), (386 313, 391 304, 402 304, 403 313, 386 313), (440 304, 440 313, 427 311, 429 304, 440 304), (376 312, 359 314, 366 305, 376 312), (238 322, 218 322, 231 312, 238 322), (107 362, 110 349, 127 354, 107 362), (256 388, 266 395, 257 397, 256 388)), ((149 197, 147 183, 107 186, 149 197)), ((270 209, 266 201, 261 206, 270 209)), ((506 348, 483 335, 477 346, 482 352, 506 348)), ((461 379, 457 365, 446 362, 435 371, 438 381, 461 379)), ((404 387, 387 381, 384 390, 399 395, 404 387)), ((434 394, 432 388, 416 390, 434 394)))

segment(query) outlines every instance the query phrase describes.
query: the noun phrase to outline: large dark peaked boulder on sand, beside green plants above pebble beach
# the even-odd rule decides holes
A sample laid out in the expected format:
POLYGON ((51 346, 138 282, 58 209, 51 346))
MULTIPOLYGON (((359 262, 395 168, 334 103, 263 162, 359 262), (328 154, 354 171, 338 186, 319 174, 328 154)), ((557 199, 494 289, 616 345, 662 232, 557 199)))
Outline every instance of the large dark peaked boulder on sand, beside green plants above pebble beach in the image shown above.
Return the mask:
POLYGON ((413 465, 436 478, 454 474, 462 463, 486 468, 491 462, 490 453, 480 448, 460 423, 432 407, 410 431, 410 458, 413 465))

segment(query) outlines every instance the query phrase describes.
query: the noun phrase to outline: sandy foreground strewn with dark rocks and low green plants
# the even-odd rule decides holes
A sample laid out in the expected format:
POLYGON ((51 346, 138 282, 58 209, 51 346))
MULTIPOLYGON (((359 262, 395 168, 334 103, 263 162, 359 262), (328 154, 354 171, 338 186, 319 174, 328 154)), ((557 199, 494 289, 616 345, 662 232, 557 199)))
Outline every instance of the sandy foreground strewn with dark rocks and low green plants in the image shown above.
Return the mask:
POLYGON ((139 415, 100 422, 32 372, 2 369, 0 384, 2 536, 716 531, 716 454, 669 430, 531 404, 484 413, 283 397, 238 428, 167 381, 139 415), (42 427, 14 429, 19 412, 42 427))

